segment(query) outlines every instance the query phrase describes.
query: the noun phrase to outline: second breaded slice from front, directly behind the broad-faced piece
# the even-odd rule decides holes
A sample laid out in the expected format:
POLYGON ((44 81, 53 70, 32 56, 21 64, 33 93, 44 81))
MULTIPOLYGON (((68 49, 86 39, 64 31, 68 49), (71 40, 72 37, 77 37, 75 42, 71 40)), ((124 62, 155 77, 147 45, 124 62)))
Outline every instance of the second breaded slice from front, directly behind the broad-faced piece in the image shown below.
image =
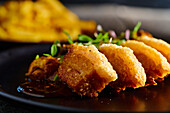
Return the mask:
POLYGON ((116 44, 103 44, 99 50, 107 57, 118 74, 118 79, 111 82, 109 86, 117 91, 124 90, 126 87, 145 86, 145 70, 131 49, 116 44))

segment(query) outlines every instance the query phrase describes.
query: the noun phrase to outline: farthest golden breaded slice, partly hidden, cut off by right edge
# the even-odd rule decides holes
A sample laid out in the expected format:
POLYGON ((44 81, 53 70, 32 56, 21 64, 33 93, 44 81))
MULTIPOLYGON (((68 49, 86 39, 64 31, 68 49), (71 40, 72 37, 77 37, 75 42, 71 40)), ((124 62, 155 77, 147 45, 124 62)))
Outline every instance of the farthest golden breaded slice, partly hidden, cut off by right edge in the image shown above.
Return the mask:
POLYGON ((155 48, 157 51, 162 53, 162 55, 166 57, 170 63, 170 44, 161 39, 150 38, 147 35, 137 38, 137 41, 143 42, 146 45, 155 48))

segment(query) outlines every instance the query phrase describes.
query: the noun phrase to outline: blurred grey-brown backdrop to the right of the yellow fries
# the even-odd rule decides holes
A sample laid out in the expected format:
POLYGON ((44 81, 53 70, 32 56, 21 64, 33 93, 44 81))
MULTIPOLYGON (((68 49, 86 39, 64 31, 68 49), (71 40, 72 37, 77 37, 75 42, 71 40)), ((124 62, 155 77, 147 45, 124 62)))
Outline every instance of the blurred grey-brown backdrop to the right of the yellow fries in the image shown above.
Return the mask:
MULTIPOLYGON (((1 4, 6 1, 1 0, 1 4)), ((119 34, 141 21, 141 29, 170 41, 169 0, 61 0, 61 3, 80 19, 94 20, 106 31, 113 29, 119 34)))

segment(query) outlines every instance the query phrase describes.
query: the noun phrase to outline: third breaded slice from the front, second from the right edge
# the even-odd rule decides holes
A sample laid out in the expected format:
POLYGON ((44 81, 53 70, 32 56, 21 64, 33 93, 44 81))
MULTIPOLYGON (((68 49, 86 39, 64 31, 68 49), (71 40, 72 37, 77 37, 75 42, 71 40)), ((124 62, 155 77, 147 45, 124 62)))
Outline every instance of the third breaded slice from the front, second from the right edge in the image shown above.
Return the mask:
POLYGON ((147 75, 146 85, 156 85, 154 80, 163 79, 170 74, 170 64, 156 49, 135 40, 128 40, 121 45, 132 49, 137 59, 142 63, 147 75))

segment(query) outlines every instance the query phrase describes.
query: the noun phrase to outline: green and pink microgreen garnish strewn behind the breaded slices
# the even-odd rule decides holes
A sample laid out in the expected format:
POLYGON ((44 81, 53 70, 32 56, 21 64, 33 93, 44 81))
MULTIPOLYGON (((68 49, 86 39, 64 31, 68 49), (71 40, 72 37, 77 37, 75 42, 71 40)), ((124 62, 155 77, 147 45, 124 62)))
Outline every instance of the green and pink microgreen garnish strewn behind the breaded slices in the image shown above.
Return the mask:
MULTIPOLYGON (((80 34, 78 35, 78 42, 75 42, 77 45, 95 45, 97 48, 103 43, 112 43, 121 45, 122 42, 130 39, 136 39, 138 38, 137 32, 141 26, 141 22, 138 22, 137 25, 134 27, 132 31, 127 29, 125 32, 121 32, 119 36, 116 35, 115 31, 110 30, 109 32, 105 32, 101 25, 97 27, 97 30, 99 33, 95 32, 95 38, 91 38, 87 35, 80 34)), ((68 36, 68 43, 73 44, 73 40, 68 32, 63 31, 68 36)), ((55 57, 58 53, 58 48, 61 47, 60 41, 55 41, 51 46, 51 53, 50 54, 43 54, 44 56, 52 56, 55 57)), ((59 62, 62 62, 62 58, 64 55, 57 56, 59 59, 59 62)), ((39 55, 35 57, 35 59, 38 59, 39 55)))

